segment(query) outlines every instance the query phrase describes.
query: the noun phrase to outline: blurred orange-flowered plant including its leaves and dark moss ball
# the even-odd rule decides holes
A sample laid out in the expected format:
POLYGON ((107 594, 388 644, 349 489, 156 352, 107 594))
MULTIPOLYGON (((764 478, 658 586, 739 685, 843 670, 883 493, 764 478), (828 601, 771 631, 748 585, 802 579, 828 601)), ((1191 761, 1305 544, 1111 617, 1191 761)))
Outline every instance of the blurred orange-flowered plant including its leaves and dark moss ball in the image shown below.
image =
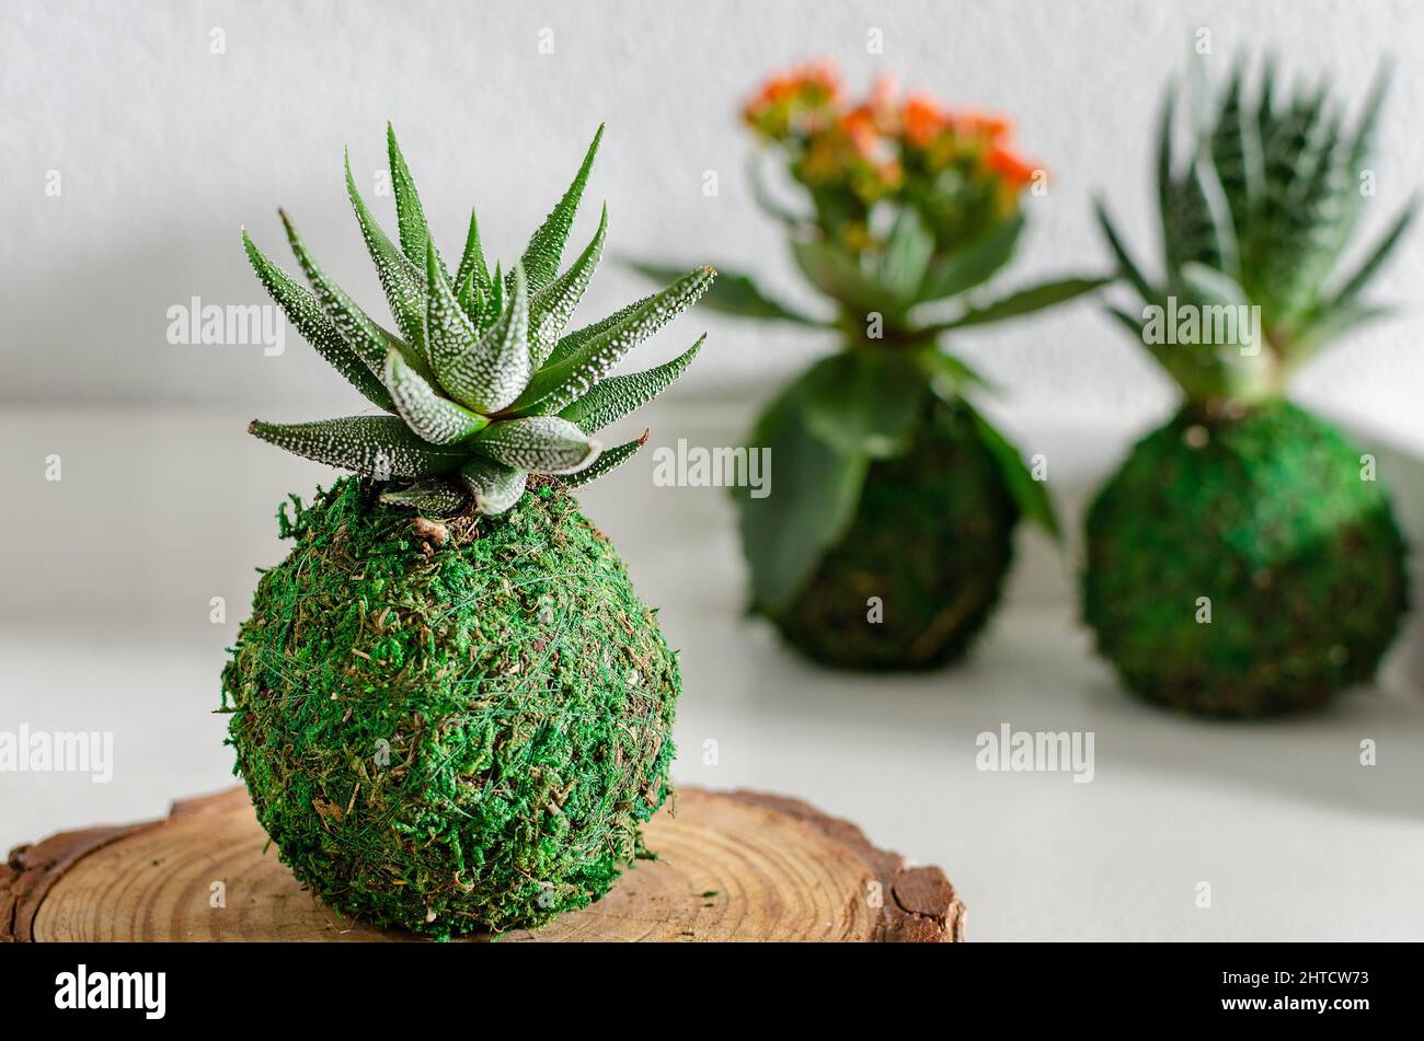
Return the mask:
POLYGON ((775 201, 753 165, 756 198, 829 307, 803 313, 725 267, 703 306, 830 330, 843 348, 786 388, 749 438, 778 474, 770 495, 738 493, 753 610, 830 664, 941 664, 988 619, 1018 518, 1057 532, 1044 484, 965 400, 984 381, 948 337, 1104 280, 985 289, 1044 176, 1001 117, 901 98, 887 80, 850 102, 824 65, 770 80, 743 117, 799 203, 775 201))

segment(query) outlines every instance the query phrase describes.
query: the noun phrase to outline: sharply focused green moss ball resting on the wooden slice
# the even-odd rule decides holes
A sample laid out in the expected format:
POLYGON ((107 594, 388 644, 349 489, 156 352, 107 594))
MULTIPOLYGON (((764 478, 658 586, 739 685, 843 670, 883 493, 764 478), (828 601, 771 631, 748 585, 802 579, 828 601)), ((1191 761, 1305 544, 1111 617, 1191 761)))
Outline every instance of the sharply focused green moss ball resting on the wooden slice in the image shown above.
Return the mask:
POLYGON ((281 515, 224 670, 282 862, 337 912, 446 937, 602 896, 669 792, 678 661, 557 485, 433 545, 376 488, 281 515))

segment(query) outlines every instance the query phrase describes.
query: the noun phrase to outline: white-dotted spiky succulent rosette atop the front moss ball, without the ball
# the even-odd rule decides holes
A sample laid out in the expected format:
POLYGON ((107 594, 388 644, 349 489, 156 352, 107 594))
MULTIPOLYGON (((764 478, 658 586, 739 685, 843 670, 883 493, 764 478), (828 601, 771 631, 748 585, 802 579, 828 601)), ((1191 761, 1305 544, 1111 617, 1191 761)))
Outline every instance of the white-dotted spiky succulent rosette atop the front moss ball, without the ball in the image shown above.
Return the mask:
POLYGON ((584 484, 635 451, 604 451, 592 434, 645 404, 688 367, 698 340, 672 361, 609 378, 631 348, 689 307, 712 283, 711 267, 568 336, 568 324, 604 249, 608 212, 582 253, 560 273, 574 213, 602 128, 564 198, 506 274, 488 270, 470 215, 454 274, 436 252, 410 171, 387 134, 397 247, 366 208, 346 164, 346 191, 396 319, 390 333, 316 265, 283 212, 308 292, 273 265, 244 230, 252 267, 292 324, 372 404, 390 415, 302 424, 255 420, 251 432, 298 455, 392 482, 384 501, 450 513, 467 502, 503 513, 530 474, 584 484))

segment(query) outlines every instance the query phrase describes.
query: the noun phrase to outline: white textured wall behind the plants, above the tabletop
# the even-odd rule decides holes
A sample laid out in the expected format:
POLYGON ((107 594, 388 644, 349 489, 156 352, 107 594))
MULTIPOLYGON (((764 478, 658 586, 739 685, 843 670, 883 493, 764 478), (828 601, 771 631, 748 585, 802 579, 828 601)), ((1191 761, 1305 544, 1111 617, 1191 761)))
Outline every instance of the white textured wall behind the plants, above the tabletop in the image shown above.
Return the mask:
MULTIPOLYGON (((1149 138, 1163 77, 1209 27, 1218 64, 1272 46, 1287 67, 1330 71, 1360 97, 1377 58, 1398 60, 1378 162, 1378 228, 1424 182, 1424 6, 1408 3, 108 3, 4 4, 0 30, 0 404, 224 405, 276 420, 357 401, 292 337, 283 357, 165 341, 169 304, 255 303, 238 246, 246 223, 282 255, 283 205, 316 256, 377 307, 340 181, 350 144, 369 186, 393 119, 446 250, 467 206, 517 255, 608 124, 592 195, 609 201, 615 253, 755 266, 799 286, 742 179, 735 108, 769 70, 837 60, 853 85, 893 70, 951 102, 1000 108, 1057 175, 1032 201, 1018 279, 1104 262, 1089 220, 1102 191, 1149 242, 1149 138), (884 55, 866 53, 869 27, 884 55), (226 53, 209 53, 221 27, 226 53), (537 51, 543 27, 555 53, 537 51), (705 169, 719 198, 703 198, 705 169), (47 171, 63 195, 44 195, 47 171)), ((377 201, 389 208, 387 199, 377 201)), ((389 210, 383 210, 387 212, 389 210)), ((575 233, 591 230, 585 213, 575 233)), ((1401 319, 1354 336, 1302 381, 1331 411, 1424 441, 1418 408, 1424 233, 1381 279, 1401 319)), ((638 283, 609 265, 597 309, 638 283)), ((713 333, 684 394, 769 393, 824 344, 713 317, 685 319, 645 356, 713 333)), ((1091 306, 964 337, 1024 418, 1146 422, 1169 387, 1091 306)))

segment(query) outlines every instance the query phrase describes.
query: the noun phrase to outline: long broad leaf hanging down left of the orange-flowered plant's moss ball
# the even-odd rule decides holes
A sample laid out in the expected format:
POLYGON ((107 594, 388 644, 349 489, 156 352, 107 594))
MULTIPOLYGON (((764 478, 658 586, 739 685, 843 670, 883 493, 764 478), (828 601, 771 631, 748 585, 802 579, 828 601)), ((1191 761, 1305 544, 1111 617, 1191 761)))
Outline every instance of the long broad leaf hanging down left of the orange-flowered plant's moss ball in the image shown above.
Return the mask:
POLYGON ((864 488, 864 455, 844 455, 807 429, 793 384, 752 431, 749 452, 768 449, 762 489, 732 489, 742 549, 752 572, 752 606, 776 613, 800 594, 826 552, 844 538, 864 488))

